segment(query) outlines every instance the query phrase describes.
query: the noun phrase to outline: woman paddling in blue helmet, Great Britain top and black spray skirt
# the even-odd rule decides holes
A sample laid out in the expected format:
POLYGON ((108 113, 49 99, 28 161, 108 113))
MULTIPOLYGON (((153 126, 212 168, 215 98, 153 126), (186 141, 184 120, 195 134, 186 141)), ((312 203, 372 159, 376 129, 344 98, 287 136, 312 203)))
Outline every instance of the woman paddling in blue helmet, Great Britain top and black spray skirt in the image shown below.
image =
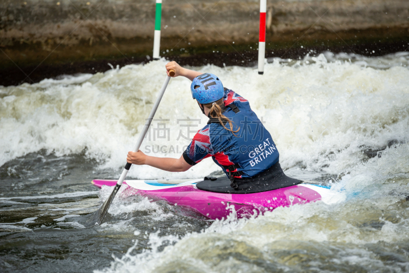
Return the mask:
POLYGON ((196 133, 180 158, 149 156, 139 150, 128 153, 128 163, 184 172, 212 156, 229 180, 210 178, 197 186, 223 193, 270 191, 301 183, 284 174, 277 147, 247 100, 224 88, 213 74, 188 70, 174 61, 166 64, 168 76, 171 69, 175 71, 173 77, 184 76, 192 81, 192 97, 209 122, 196 133))

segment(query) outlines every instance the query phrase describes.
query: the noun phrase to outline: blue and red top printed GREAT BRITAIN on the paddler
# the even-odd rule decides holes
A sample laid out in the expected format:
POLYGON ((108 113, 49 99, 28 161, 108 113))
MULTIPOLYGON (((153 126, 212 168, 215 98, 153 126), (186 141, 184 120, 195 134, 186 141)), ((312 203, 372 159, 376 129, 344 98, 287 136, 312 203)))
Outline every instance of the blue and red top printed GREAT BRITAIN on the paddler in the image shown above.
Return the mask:
MULTIPOLYGON (((230 89, 224 89, 223 115, 233 122, 233 132, 218 119, 210 119, 200 129, 184 152, 185 161, 195 165, 212 156, 231 178, 255 176, 279 162, 279 152, 270 133, 263 126, 247 100, 230 89)), ((229 123, 225 124, 229 128, 229 123)), ((232 186, 233 187, 233 186, 232 186)))

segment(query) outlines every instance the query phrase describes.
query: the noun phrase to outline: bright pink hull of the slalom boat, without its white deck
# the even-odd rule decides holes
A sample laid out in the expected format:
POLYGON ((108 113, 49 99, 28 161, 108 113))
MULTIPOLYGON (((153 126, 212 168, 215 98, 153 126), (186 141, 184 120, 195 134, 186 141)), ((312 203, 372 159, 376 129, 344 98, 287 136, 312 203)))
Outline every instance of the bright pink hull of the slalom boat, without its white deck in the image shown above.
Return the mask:
MULTIPOLYGON (((93 180, 97 187, 102 185, 115 186, 115 180, 93 180)), ((125 184, 125 183, 124 183, 125 184)), ((252 217, 272 211, 278 207, 288 207, 294 204, 304 204, 321 200, 319 192, 302 186, 303 184, 290 186, 273 191, 226 194, 202 191, 193 185, 171 187, 155 190, 141 190, 127 187, 125 195, 148 196, 154 200, 166 200, 175 206, 182 206, 210 219, 225 219, 232 211, 236 211, 238 218, 252 217)), ((316 186, 318 187, 318 186, 316 186)))

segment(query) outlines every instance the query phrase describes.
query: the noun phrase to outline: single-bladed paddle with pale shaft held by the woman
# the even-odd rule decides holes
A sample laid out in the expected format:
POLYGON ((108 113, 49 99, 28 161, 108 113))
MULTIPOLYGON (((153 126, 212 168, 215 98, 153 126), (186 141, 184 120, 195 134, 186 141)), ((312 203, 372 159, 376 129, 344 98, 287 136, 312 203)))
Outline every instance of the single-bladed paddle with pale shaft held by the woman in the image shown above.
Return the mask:
MULTIPOLYGON (((175 71, 173 69, 169 70, 169 75, 170 76, 174 76, 175 75, 175 71)), ((168 86, 170 77, 166 76, 165 82, 162 85, 162 88, 159 92, 159 95, 156 98, 155 104, 153 105, 152 110, 150 111, 149 117, 145 122, 145 126, 142 129, 141 134, 139 135, 139 139, 137 144, 135 145, 135 147, 133 148, 133 152, 137 152, 139 150, 139 148, 141 147, 142 141, 145 138, 145 134, 148 131, 148 128, 150 126, 150 123, 152 122, 153 117, 155 116, 155 112, 157 107, 159 106, 159 103, 162 100, 163 94, 165 93, 165 89, 166 86, 168 86)), ((98 211, 95 212, 93 220, 96 220, 96 222, 98 224, 101 224, 102 221, 105 218, 106 213, 108 212, 109 206, 111 206, 113 197, 115 197, 115 195, 117 194, 119 188, 121 188, 121 185, 125 179, 126 174, 129 171, 129 168, 131 167, 132 164, 130 163, 126 163, 124 170, 122 171, 121 176, 119 177, 119 180, 117 182, 117 185, 115 185, 115 187, 113 188, 113 191, 111 193, 111 195, 109 195, 108 199, 105 200, 105 202, 102 204, 101 208, 98 209, 98 211)))

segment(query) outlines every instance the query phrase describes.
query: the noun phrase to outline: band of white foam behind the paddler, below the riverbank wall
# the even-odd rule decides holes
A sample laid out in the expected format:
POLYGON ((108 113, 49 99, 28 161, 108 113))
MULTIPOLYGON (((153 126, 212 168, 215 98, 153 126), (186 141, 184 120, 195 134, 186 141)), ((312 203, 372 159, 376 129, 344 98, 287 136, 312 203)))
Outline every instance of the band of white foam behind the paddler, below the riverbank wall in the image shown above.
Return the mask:
MULTIPOLYGON (((325 171, 337 173, 362 160, 360 146, 381 147, 391 139, 407 138, 409 70, 400 64, 401 58, 408 59, 403 53, 376 57, 396 64, 387 70, 343 61, 352 58, 350 55, 331 56, 327 53, 308 57, 310 64, 268 63, 264 76, 255 69, 237 66, 194 69, 212 71, 224 86, 249 100, 266 121, 283 167, 301 162, 311 170, 328 166, 325 171)), ((0 149, 5 151, 0 155, 0 165, 39 149, 62 155, 86 148, 87 156, 105 162, 101 168, 121 169, 165 78, 165 63, 160 60, 127 65, 90 78, 82 75, 0 87, 7 94, 0 99, 0 149)), ((187 123, 180 119, 199 119, 200 124, 192 122, 197 127, 191 130, 207 122, 189 97, 190 81, 172 78, 155 116, 169 119, 162 122, 169 128, 169 141, 158 138, 160 135, 153 140, 151 135, 150 141, 145 139, 142 151, 147 150, 147 145, 154 146, 155 151, 157 146, 164 147, 167 152, 171 146, 178 146, 178 153, 150 154, 181 155, 189 141, 179 136, 180 130, 187 135, 187 128, 180 126, 187 123)), ((154 121, 153 128, 158 123, 161 122, 154 121)), ((218 167, 207 159, 185 173, 132 166, 128 175, 147 179, 195 178, 216 170, 218 167)))

